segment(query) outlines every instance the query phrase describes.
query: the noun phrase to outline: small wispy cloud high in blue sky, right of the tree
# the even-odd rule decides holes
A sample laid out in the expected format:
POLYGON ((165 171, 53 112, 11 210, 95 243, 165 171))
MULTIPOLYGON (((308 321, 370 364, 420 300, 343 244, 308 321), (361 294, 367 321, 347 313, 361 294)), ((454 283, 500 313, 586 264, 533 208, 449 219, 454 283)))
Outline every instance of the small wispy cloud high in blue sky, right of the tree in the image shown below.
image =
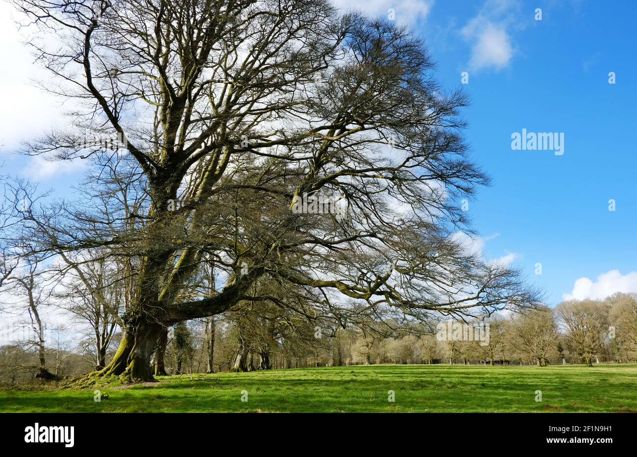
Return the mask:
POLYGON ((478 15, 462 27, 464 39, 473 43, 469 60, 471 71, 508 66, 515 53, 510 31, 520 27, 518 6, 514 0, 487 0, 478 15))

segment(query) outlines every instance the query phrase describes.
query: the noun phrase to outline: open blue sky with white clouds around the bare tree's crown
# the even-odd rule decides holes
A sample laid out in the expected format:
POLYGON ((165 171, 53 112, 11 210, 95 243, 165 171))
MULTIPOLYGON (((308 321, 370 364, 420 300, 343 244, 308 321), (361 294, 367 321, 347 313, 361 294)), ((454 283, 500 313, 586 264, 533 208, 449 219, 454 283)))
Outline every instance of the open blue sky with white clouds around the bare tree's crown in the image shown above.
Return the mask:
MULTIPOLYGON (((463 85, 466 138, 493 186, 469 202, 489 258, 507 257, 545 288, 602 298, 637 292, 637 3, 633 1, 341 1, 371 14, 394 10, 427 42, 445 87, 463 85), (535 20, 541 8, 542 20, 535 20), (616 83, 608 83, 615 72, 616 83), (563 132, 564 153, 512 150, 513 132, 563 132), (609 200, 615 211, 608 211, 609 200), (535 265, 542 274, 536 275, 535 265), (600 276, 601 275, 601 276, 600 276), (588 278, 588 279, 586 279, 588 278), (574 290, 575 289, 575 290, 574 290)), ((0 6, 3 172, 64 188, 76 165, 8 155, 61 110, 28 87, 39 74, 0 6), (18 98, 21 97, 21 98, 18 98), (20 99, 27 102, 19 102, 20 99), (8 108, 10 107, 10 108, 8 108)), ((459 202, 460 204, 460 202, 459 202)))

